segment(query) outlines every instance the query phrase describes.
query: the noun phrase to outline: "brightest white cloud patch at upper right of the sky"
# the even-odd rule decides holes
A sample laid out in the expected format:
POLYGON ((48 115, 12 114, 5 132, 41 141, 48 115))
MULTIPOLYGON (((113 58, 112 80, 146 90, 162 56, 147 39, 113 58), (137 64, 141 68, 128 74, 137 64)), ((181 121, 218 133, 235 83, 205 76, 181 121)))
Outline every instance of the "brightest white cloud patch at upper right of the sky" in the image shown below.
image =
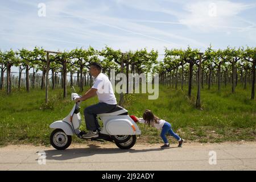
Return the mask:
POLYGON ((187 3, 179 16, 179 22, 201 31, 228 31, 227 29, 246 28, 248 23, 238 16, 250 9, 250 5, 230 1, 197 1, 187 3))

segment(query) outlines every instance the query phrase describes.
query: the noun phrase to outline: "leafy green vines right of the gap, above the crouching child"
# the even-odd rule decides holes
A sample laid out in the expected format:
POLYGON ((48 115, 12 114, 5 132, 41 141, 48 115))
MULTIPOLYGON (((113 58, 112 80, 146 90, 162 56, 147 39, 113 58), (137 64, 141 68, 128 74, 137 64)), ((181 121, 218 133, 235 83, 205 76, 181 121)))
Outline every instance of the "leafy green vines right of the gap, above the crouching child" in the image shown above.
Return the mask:
MULTIPOLYGON (((251 81, 251 100, 255 97, 255 66, 256 48, 213 49, 209 46, 205 52, 199 49, 165 49, 163 61, 154 69, 160 75, 160 82, 172 85, 177 89, 178 83, 183 90, 184 82, 188 84, 188 97, 191 97, 192 85, 197 85, 197 98, 204 83, 208 89, 216 82, 218 91, 221 83, 232 84, 231 92, 236 90, 237 82, 241 81, 244 89, 248 80, 251 81)), ((200 102, 197 106, 200 106, 200 102)))

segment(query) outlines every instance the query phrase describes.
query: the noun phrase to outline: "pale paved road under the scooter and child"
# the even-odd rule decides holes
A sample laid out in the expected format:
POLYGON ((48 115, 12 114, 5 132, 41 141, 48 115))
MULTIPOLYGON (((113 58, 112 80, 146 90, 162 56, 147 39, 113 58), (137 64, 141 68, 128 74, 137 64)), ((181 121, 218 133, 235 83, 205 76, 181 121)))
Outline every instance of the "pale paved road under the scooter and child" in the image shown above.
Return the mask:
POLYGON ((159 146, 120 150, 111 143, 72 144, 64 151, 7 146, 0 148, 0 170, 256 170, 256 142, 159 146))

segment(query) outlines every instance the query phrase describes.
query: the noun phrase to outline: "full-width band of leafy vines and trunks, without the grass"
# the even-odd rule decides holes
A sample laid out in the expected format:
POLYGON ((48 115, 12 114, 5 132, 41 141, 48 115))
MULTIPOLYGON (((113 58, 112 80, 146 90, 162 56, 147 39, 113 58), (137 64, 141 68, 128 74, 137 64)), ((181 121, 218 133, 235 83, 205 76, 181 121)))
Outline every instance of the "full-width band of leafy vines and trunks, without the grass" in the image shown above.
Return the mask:
POLYGON ((117 73, 159 73, 160 83, 172 85, 177 89, 177 84, 188 84, 188 96, 191 97, 191 88, 196 84, 197 106, 200 106, 200 88, 207 84, 210 90, 213 84, 226 86, 232 83, 231 92, 236 91, 238 82, 251 86, 251 100, 255 97, 255 67, 256 48, 226 48, 224 50, 214 50, 210 46, 205 52, 199 49, 186 50, 166 49, 163 60, 158 60, 158 52, 146 49, 141 51, 129 51, 122 53, 106 47, 102 51, 97 51, 92 47, 88 49, 73 49, 70 52, 51 52, 43 48, 35 47, 33 51, 20 49, 19 51, 0 52, 1 78, 0 89, 6 88, 7 94, 11 93, 11 88, 26 86, 27 92, 30 88, 40 85, 44 89, 48 81, 48 73, 51 71, 51 88, 61 86, 64 89, 63 96, 67 96, 67 85, 77 85, 80 91, 84 86, 92 85, 92 77, 89 75, 89 65, 98 62, 102 65, 104 73, 110 76, 110 69, 115 69, 117 73), (18 76, 11 75, 11 67, 18 67, 18 76), (30 69, 33 73, 29 73, 30 69), (24 77, 22 79, 22 72, 24 77), (42 71, 42 74, 38 74, 42 71), (6 76, 5 73, 6 72, 6 76), (69 79, 67 80, 67 73, 69 79), (74 76, 76 75, 76 76, 74 76), (47 76, 47 78, 46 78, 47 76), (199 86, 200 85, 200 86, 199 86))

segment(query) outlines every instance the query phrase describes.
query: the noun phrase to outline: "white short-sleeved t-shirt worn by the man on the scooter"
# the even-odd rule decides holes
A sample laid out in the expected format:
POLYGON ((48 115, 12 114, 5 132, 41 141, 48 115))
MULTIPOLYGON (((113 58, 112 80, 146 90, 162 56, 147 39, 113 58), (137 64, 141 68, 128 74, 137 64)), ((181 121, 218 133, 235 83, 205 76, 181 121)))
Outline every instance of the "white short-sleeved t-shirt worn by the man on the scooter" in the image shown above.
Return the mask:
POLYGON ((106 104, 117 104, 117 99, 112 88, 112 84, 109 78, 103 73, 98 74, 95 78, 95 82, 92 88, 97 89, 97 96, 100 102, 105 102, 106 104))

